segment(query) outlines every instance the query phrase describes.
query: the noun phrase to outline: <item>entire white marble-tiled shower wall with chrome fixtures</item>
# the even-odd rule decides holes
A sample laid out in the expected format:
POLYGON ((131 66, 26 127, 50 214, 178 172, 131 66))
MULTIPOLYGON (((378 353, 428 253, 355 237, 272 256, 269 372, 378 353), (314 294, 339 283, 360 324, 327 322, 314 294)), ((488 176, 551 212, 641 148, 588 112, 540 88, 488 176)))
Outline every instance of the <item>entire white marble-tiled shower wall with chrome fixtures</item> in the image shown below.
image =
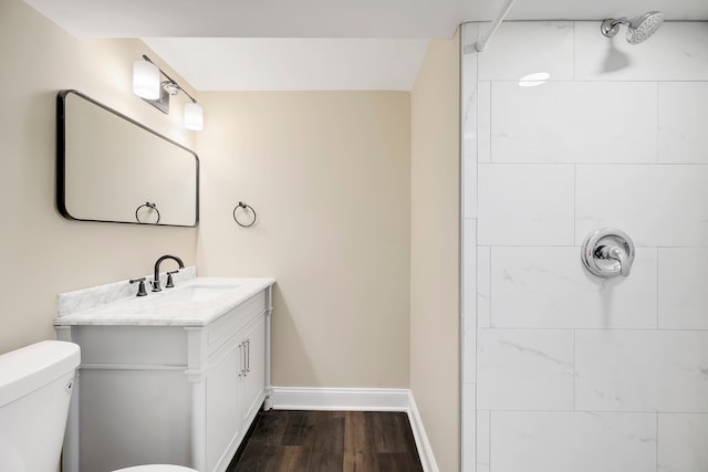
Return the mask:
POLYGON ((707 23, 538 4, 461 30, 460 471, 708 472, 707 23))

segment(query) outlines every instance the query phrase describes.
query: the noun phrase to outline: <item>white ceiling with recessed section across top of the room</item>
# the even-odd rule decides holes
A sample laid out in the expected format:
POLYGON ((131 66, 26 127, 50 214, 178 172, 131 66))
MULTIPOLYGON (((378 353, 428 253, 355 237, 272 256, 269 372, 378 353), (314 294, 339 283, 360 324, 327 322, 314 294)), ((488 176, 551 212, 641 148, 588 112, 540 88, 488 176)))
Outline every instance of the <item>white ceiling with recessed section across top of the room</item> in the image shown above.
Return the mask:
MULTIPOLYGON (((493 19, 503 0, 25 2, 79 38, 142 38, 197 90, 226 91, 410 90, 427 40, 493 19)), ((517 0, 507 19, 602 20, 649 10, 708 20, 708 0, 517 0)))

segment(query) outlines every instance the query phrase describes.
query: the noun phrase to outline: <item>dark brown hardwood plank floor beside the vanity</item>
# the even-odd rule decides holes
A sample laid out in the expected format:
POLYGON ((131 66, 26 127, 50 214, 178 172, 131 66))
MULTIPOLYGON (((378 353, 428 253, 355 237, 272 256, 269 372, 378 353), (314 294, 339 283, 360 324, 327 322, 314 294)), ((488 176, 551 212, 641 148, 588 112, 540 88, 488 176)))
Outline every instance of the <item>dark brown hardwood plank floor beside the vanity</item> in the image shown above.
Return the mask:
POLYGON ((227 472, 423 472, 408 416, 261 411, 227 472))

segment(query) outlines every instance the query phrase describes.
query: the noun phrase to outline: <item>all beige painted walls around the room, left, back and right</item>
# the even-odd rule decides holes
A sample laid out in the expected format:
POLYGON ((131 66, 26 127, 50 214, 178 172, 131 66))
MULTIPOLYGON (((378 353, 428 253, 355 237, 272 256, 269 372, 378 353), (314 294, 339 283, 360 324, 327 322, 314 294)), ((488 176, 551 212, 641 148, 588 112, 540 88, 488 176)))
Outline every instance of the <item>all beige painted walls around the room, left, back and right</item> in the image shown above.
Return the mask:
POLYGON ((434 42, 413 94, 204 93, 200 229, 82 223, 54 206, 56 91, 195 136, 132 94, 142 42, 77 40, 3 0, 0 353, 54 337, 58 293, 164 253, 201 275, 274 276, 273 384, 412 387, 440 470, 458 470, 457 51, 434 42), (232 220, 239 201, 252 229, 232 220))

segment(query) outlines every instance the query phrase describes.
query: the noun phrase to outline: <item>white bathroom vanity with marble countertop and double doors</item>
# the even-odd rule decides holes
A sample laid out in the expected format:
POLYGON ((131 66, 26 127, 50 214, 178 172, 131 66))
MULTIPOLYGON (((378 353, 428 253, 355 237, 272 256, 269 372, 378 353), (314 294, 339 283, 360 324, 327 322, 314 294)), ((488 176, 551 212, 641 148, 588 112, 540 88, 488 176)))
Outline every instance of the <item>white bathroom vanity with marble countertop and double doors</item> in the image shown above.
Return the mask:
POLYGON ((60 295, 58 337, 81 346, 64 471, 223 472, 268 403, 273 283, 195 277, 88 308, 60 295))

